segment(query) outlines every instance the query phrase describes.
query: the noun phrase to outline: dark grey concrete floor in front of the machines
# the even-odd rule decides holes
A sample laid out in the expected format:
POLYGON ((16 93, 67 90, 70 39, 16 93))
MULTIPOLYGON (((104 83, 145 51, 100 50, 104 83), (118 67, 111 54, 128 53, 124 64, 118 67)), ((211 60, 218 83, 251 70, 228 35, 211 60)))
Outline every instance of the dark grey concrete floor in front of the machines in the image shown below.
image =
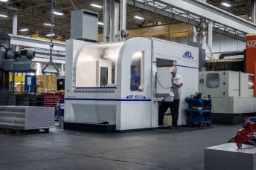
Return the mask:
POLYGON ((97 134, 0 133, 0 169, 204 169, 204 148, 226 143, 242 125, 97 134))

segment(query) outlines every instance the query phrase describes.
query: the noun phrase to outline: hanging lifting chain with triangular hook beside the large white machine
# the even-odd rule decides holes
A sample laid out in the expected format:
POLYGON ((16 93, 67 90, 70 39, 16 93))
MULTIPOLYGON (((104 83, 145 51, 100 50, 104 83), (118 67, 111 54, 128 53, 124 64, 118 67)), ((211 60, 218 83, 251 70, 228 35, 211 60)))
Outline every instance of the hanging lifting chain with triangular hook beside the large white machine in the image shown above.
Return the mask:
POLYGON ((49 4, 50 4, 50 13, 51 13, 51 40, 50 40, 50 61, 45 65, 45 67, 42 69, 42 73, 55 73, 57 76, 59 75, 59 69, 56 67, 56 65, 54 64, 54 61, 52 59, 52 51, 54 48, 54 43, 53 43, 53 36, 54 36, 54 9, 55 9, 55 0, 49 0, 49 4), (49 65, 53 65, 54 69, 57 72, 53 72, 53 71, 45 71, 45 68, 48 68, 49 65))

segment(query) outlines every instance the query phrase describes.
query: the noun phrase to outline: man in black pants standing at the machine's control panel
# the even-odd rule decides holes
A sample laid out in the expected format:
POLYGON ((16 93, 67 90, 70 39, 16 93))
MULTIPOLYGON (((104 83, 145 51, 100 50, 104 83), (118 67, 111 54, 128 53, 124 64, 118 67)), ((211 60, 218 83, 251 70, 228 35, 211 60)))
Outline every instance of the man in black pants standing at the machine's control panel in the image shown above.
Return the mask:
POLYGON ((163 124, 164 114, 168 108, 172 114, 172 127, 171 129, 177 128, 177 121, 179 117, 179 99, 181 95, 182 87, 182 76, 177 73, 176 66, 173 66, 173 102, 161 102, 159 105, 159 125, 163 124))

